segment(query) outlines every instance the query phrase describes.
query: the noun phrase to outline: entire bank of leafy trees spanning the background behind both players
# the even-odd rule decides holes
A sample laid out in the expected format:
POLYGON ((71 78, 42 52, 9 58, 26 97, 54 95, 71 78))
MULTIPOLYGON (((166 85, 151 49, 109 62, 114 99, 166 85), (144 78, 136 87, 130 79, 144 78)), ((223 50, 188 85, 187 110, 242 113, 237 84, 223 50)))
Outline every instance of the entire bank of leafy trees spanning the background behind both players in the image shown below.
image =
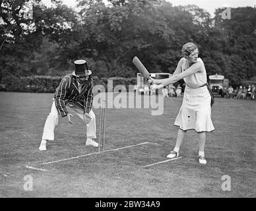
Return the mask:
POLYGON ((238 86, 256 75, 256 8, 231 9, 214 18, 196 5, 164 0, 77 0, 79 11, 52 1, 0 0, 0 80, 7 76, 59 75, 86 59, 94 76, 134 77, 136 55, 150 72, 173 73, 186 42, 199 46, 207 74, 238 86), (33 18, 22 8, 29 3, 33 18))

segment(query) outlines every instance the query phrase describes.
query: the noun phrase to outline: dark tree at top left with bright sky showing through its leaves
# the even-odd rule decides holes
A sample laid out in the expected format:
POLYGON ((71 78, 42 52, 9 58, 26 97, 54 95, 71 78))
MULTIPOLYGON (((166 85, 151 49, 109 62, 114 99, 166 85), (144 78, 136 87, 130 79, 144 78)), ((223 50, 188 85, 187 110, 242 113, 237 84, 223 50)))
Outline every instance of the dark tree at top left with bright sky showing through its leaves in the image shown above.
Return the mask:
MULTIPOLYGON (((41 0, 1 0, 1 78, 5 75, 30 75, 34 51, 43 38, 62 45, 69 44, 75 12, 59 1, 47 8, 41 0), (32 14, 26 12, 30 7, 32 14)), ((0 78, 0 79, 1 79, 0 78)))

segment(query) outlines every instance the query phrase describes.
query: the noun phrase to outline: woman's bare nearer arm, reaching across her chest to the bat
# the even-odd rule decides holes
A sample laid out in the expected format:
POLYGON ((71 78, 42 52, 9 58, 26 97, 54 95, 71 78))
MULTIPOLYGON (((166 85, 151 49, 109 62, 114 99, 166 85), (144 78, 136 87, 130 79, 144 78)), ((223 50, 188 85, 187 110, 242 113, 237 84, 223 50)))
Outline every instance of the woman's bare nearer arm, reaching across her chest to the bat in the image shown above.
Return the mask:
POLYGON ((183 71, 182 73, 177 73, 176 75, 172 75, 170 78, 165 78, 163 82, 159 85, 160 86, 159 88, 169 84, 174 84, 177 81, 181 80, 182 78, 185 78, 189 75, 192 75, 194 73, 201 71, 202 68, 203 68, 203 63, 197 62, 191 65, 191 67, 189 67, 186 71, 183 71))

